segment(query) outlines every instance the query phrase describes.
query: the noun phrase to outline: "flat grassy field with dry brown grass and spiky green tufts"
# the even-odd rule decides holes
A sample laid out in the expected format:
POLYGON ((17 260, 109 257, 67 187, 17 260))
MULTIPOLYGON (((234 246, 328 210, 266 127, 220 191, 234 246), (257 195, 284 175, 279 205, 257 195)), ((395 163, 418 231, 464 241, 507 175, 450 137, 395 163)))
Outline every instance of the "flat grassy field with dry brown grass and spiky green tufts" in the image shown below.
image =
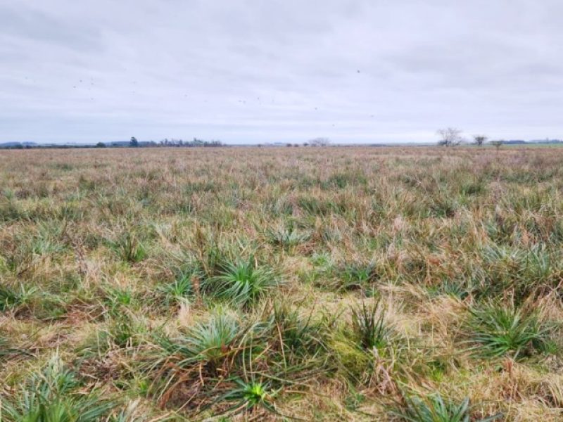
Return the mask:
POLYGON ((562 163, 1 151, 0 420, 563 420, 562 163))

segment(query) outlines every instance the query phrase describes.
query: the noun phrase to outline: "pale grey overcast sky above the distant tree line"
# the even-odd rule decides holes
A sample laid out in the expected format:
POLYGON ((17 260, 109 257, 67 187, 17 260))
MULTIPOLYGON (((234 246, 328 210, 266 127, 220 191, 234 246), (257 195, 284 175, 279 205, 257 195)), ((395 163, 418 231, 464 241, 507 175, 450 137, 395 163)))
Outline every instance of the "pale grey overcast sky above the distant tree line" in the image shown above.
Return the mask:
POLYGON ((0 142, 563 138, 561 0, 0 0, 0 142))

